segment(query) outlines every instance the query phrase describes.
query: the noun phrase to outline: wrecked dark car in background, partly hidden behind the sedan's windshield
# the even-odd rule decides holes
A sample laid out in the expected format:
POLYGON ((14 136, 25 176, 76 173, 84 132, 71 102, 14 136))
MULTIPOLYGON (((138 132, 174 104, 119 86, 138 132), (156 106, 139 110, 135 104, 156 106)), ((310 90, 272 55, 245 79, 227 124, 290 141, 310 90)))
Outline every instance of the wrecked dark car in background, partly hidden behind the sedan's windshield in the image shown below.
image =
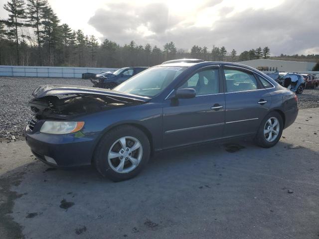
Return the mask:
POLYGON ((132 76, 148 69, 148 67, 124 67, 115 72, 103 72, 95 76, 95 80, 91 79, 94 87, 113 89, 117 85, 130 79, 132 76))

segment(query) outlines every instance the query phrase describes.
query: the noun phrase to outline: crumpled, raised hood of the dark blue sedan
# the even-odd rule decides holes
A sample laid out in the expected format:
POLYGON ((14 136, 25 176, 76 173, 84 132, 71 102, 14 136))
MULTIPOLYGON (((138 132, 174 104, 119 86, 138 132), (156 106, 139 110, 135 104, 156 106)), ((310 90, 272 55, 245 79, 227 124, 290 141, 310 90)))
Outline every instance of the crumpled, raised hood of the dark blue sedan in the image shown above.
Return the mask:
POLYGON ((32 96, 35 99, 59 95, 100 95, 123 100, 130 99, 137 102, 148 102, 150 100, 148 97, 137 96, 108 89, 71 85, 41 85, 32 93, 32 96))

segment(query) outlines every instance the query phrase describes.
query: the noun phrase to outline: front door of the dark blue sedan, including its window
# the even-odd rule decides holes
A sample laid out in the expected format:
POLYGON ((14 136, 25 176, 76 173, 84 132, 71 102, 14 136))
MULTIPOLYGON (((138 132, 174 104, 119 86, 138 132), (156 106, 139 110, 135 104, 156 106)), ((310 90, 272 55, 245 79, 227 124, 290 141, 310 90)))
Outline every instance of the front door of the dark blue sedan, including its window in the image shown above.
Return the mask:
POLYGON ((223 136, 225 95, 217 67, 203 68, 178 89, 192 88, 192 99, 165 100, 163 148, 209 141, 223 136))

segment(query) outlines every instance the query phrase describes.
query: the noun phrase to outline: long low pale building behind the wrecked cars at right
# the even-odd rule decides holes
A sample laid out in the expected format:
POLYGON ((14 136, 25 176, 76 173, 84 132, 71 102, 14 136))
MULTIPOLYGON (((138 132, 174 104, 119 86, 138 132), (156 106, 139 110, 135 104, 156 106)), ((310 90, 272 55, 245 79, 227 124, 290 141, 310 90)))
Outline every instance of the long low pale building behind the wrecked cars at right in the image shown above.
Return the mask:
POLYGON ((247 65, 256 68, 260 71, 280 71, 280 72, 309 72, 312 71, 315 62, 305 61, 281 61, 281 60, 268 60, 268 59, 256 59, 250 61, 237 62, 243 65, 247 65))

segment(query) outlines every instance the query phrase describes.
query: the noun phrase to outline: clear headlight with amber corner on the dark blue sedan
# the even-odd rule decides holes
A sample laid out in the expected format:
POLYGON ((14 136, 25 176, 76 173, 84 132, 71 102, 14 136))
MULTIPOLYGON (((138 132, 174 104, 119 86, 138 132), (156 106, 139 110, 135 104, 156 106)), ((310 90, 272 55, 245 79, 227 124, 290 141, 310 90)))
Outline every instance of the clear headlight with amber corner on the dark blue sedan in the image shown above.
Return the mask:
POLYGON ((41 133, 65 134, 81 130, 84 122, 45 121, 40 129, 41 133))

